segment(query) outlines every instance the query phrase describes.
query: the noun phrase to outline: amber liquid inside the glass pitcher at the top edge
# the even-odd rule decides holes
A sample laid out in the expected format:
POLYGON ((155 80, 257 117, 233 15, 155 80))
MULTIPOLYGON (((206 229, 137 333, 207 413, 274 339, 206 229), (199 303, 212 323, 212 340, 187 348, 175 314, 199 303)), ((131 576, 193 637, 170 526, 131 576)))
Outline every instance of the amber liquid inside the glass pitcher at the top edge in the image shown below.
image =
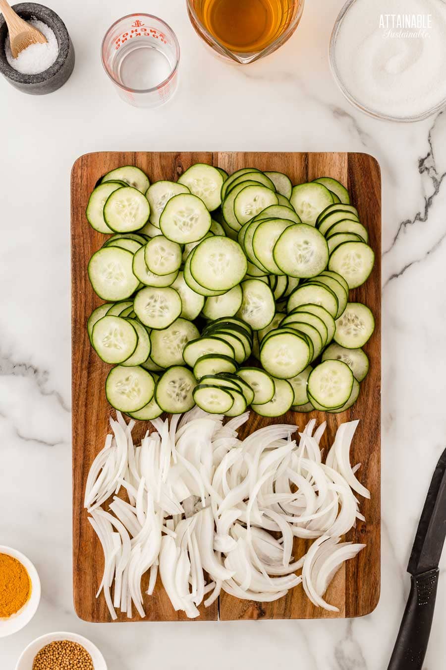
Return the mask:
POLYGON ((267 48, 294 19, 300 0, 195 0, 197 17, 231 52, 267 48))

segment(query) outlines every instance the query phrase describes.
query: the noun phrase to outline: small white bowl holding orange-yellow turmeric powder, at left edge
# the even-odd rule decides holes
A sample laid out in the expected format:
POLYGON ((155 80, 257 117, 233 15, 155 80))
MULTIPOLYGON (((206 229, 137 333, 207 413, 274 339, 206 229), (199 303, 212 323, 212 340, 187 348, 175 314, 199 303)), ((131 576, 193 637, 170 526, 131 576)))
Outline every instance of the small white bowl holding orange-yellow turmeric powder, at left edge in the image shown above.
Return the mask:
POLYGON ((40 580, 33 563, 17 549, 0 545, 0 637, 21 630, 40 602, 40 580))

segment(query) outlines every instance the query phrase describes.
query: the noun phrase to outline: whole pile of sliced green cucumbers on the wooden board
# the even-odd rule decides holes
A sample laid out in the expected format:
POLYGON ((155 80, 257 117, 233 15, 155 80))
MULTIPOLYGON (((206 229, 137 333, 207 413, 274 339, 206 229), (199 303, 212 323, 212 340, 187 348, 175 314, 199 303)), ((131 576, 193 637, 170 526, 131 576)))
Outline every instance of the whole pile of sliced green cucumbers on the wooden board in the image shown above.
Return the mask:
POLYGON ((197 163, 150 185, 124 165, 100 180, 86 217, 109 236, 88 263, 107 302, 87 330, 115 366, 113 407, 148 420, 195 404, 277 417, 356 402, 374 318, 350 289, 374 252, 340 182, 197 163))

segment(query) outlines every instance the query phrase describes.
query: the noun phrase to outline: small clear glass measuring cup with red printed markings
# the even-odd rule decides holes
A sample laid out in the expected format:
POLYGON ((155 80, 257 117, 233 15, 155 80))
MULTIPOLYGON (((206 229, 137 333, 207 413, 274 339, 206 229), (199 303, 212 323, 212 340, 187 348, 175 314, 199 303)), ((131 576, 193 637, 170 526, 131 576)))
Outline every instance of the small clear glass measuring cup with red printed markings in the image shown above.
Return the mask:
POLYGON ((156 16, 136 13, 115 21, 104 36, 101 56, 119 96, 134 107, 158 107, 177 90, 179 42, 156 16))

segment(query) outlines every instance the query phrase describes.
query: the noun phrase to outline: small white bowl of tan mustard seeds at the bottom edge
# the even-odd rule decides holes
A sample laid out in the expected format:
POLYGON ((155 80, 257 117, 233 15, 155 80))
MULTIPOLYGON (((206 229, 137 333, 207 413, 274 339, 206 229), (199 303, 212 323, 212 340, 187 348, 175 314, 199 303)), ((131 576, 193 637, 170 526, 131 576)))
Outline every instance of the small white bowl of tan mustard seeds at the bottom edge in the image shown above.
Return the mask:
POLYGON ((15 670, 107 670, 90 640, 74 632, 50 632, 38 637, 23 651, 15 670))

